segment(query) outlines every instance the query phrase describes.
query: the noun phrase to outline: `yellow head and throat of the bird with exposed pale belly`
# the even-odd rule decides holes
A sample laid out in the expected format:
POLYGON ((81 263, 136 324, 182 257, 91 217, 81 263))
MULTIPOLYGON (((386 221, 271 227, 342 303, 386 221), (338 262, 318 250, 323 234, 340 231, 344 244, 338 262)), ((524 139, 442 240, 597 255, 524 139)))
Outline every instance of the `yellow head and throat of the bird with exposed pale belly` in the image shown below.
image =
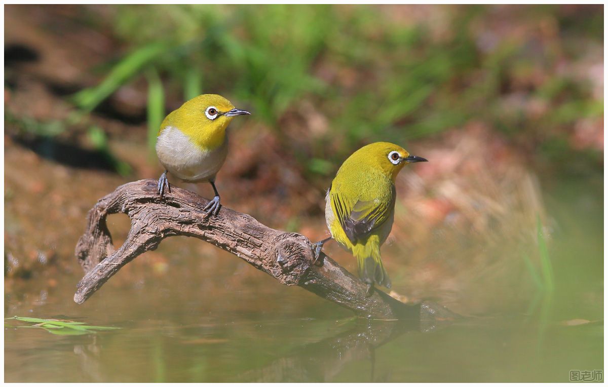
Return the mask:
POLYGON ((236 109, 221 95, 202 94, 167 115, 159 134, 167 126, 174 126, 201 148, 215 149, 224 143, 228 124, 243 114, 250 112, 236 109))

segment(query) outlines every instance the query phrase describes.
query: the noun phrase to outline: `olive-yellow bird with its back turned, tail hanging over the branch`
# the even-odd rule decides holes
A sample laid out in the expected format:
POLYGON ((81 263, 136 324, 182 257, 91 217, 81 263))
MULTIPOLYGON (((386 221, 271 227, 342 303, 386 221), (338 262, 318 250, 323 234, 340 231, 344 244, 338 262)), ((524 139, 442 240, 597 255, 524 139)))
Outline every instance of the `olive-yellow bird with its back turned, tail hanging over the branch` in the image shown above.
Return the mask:
POLYGON ((323 244, 335 239, 357 259, 359 277, 370 296, 374 284, 390 287, 380 257, 380 246, 393 227, 395 178, 407 163, 428 161, 406 149, 376 142, 354 152, 340 166, 325 197, 325 221, 331 238, 314 244, 315 258, 323 244))

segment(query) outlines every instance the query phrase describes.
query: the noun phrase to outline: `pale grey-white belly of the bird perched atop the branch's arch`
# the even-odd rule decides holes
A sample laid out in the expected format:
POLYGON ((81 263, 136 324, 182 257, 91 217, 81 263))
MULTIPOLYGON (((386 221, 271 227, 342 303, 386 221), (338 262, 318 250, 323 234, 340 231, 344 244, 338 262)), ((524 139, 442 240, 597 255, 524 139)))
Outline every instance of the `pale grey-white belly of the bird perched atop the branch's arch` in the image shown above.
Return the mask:
POLYGON ((156 139, 156 154, 174 176, 188 181, 208 181, 224 165, 228 152, 227 137, 216 149, 202 149, 182 131, 167 126, 156 139))

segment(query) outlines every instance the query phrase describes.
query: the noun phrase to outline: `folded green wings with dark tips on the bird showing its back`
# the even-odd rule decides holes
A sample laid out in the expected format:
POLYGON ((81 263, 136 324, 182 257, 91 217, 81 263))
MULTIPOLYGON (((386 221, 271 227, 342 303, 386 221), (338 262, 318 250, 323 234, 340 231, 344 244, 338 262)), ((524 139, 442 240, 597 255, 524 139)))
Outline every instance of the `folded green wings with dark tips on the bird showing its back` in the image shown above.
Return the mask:
POLYGON ((342 229, 353 244, 367 238, 380 227, 390 216, 395 207, 395 187, 392 187, 390 200, 357 199, 350 205, 339 193, 330 191, 331 205, 342 229))

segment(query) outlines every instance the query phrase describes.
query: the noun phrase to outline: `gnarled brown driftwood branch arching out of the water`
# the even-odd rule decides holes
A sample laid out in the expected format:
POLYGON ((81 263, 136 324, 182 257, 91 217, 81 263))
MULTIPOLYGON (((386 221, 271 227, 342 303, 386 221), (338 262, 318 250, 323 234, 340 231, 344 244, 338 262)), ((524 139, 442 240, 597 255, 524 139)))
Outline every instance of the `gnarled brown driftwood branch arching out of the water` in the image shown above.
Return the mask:
POLYGON ((457 315, 432 303, 406 305, 367 286, 321 253, 315 265, 311 242, 303 235, 266 227, 253 217, 221 207, 218 216, 206 216, 209 200, 172 187, 160 197, 156 180, 122 185, 100 199, 89 211, 85 234, 76 256, 85 270, 74 301, 84 303, 123 265, 168 236, 194 236, 233 253, 286 285, 303 287, 326 300, 353 310, 356 315, 378 319, 451 320, 457 315), (109 214, 125 213, 131 230, 116 250, 106 225, 109 214))

